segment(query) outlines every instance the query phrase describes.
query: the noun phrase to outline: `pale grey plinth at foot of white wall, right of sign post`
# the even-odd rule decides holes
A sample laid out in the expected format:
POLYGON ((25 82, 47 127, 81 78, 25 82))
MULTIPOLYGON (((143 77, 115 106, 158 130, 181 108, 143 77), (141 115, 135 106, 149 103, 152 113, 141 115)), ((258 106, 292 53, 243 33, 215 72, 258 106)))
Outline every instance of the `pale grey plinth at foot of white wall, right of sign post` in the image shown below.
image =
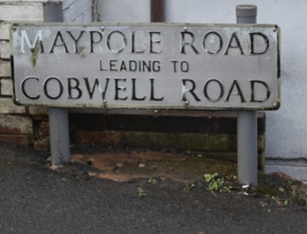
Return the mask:
POLYGON ((307 159, 266 159, 265 172, 282 172, 307 184, 307 159))

